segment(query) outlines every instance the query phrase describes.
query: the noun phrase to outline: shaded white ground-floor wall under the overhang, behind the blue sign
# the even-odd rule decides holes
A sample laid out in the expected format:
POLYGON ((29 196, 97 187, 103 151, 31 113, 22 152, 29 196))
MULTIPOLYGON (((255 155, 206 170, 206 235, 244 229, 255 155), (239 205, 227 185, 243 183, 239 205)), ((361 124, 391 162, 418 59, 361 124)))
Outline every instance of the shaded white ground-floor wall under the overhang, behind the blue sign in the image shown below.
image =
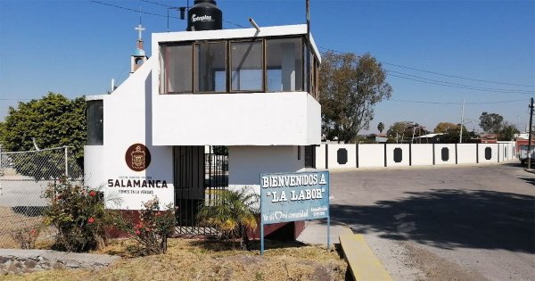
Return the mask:
POLYGON ((228 186, 254 186, 259 194, 259 177, 263 173, 295 172, 305 168, 304 146, 297 159, 297 145, 229 146, 228 186))

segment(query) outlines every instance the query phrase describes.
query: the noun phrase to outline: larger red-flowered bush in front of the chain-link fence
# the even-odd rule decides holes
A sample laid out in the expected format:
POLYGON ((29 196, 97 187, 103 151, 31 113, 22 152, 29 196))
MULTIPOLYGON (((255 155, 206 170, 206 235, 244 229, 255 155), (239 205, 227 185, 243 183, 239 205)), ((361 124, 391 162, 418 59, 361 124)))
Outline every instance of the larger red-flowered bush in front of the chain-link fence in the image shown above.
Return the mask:
POLYGON ((104 208, 103 192, 71 183, 66 178, 50 184, 43 196, 48 205, 45 224, 57 231, 54 248, 87 252, 106 243, 106 229, 114 223, 111 211, 104 208))

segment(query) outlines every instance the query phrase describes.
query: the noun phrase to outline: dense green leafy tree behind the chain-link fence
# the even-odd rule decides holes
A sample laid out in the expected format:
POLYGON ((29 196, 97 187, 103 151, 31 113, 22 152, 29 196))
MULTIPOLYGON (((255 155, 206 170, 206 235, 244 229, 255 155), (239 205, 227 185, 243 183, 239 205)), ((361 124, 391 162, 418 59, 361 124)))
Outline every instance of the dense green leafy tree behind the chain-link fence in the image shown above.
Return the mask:
POLYGON ((86 102, 83 96, 69 100, 50 92, 39 100, 21 102, 17 108, 10 107, 0 124, 0 143, 5 151, 33 150, 32 138, 35 138, 40 148, 73 146, 78 166, 83 166, 86 144, 86 102))

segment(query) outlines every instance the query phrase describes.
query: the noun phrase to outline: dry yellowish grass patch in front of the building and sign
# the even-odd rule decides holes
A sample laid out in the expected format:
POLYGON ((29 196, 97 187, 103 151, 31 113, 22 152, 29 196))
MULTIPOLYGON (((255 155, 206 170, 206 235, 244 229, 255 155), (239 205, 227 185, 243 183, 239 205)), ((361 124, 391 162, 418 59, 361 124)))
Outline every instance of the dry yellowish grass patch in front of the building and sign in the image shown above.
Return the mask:
POLYGON ((347 264, 339 252, 295 242, 266 241, 244 252, 232 242, 169 239, 168 252, 143 258, 128 253, 129 240, 114 240, 98 251, 123 256, 99 270, 52 270, 7 276, 20 280, 343 280, 347 264))

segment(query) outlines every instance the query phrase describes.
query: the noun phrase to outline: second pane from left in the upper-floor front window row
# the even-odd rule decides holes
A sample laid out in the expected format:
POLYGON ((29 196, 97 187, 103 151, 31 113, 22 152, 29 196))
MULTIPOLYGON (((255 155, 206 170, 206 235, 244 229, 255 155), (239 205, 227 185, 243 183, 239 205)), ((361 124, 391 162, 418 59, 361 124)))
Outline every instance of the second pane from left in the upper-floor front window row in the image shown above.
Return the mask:
POLYGON ((226 42, 194 45, 194 92, 226 92, 226 42))

